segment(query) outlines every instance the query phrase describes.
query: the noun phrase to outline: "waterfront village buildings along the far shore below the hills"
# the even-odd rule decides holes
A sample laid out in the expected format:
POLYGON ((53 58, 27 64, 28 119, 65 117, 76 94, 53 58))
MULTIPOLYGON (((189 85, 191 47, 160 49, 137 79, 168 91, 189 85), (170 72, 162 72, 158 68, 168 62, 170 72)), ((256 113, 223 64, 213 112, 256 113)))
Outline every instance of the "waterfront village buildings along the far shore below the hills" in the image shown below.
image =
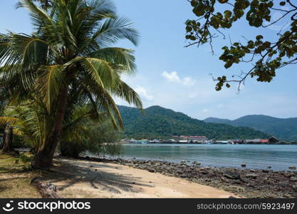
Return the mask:
POLYGON ((154 139, 152 141, 148 139, 135 140, 135 139, 122 139, 122 143, 180 143, 180 144, 295 144, 297 142, 279 141, 276 137, 269 139, 253 139, 253 140, 228 140, 217 141, 208 139, 206 136, 172 136, 171 139, 160 140, 154 139))

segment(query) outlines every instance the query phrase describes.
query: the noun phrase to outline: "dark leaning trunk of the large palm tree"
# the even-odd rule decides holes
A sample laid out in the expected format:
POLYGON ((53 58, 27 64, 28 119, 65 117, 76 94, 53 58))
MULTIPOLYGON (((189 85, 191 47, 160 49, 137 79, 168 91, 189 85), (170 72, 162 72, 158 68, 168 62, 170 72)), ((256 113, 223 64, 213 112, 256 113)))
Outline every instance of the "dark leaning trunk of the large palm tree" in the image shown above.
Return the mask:
POLYGON ((68 86, 66 88, 63 88, 58 97, 58 108, 56 112, 56 120, 53 125, 53 131, 46 140, 45 146, 39 149, 36 153, 32 164, 33 168, 50 168, 53 165, 53 156, 58 146, 58 141, 60 139, 61 131, 63 128, 63 121, 67 106, 67 92, 68 86))

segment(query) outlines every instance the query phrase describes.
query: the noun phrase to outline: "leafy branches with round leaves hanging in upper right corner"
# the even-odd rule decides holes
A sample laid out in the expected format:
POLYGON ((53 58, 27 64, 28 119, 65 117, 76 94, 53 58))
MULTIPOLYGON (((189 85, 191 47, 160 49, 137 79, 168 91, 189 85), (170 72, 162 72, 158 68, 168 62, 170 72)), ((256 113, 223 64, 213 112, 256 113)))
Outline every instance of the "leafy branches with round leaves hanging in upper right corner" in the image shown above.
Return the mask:
MULTIPOLYGON (((250 63, 248 71, 241 71, 231 78, 220 76, 217 91, 230 82, 244 84, 246 78, 271 82, 276 71, 284 66, 297 63, 297 4, 291 0, 187 0, 197 19, 186 21, 187 46, 210 44, 219 36, 226 37, 226 30, 234 28, 236 22, 246 24, 246 28, 267 29, 277 26, 276 39, 265 39, 268 35, 257 35, 254 39, 244 36, 246 41, 236 41, 231 46, 223 46, 219 60, 225 68, 238 63, 250 63), (273 17, 273 13, 278 17, 273 17), (274 18, 274 19, 273 19, 274 18), (245 19, 245 20, 244 20, 245 19)), ((231 40, 231 39, 230 39, 231 40)))

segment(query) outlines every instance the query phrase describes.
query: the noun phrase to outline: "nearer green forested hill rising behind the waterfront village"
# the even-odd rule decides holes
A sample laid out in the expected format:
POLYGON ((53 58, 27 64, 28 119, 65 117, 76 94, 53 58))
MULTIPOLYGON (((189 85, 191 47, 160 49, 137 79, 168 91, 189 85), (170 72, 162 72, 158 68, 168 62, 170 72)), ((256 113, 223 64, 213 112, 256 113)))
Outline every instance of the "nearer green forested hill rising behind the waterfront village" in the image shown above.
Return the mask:
POLYGON ((170 138, 171 136, 207 136, 209 139, 268 138, 269 135, 252 128, 234 127, 217 123, 204 123, 184 113, 160 106, 145 109, 119 106, 127 138, 170 138))

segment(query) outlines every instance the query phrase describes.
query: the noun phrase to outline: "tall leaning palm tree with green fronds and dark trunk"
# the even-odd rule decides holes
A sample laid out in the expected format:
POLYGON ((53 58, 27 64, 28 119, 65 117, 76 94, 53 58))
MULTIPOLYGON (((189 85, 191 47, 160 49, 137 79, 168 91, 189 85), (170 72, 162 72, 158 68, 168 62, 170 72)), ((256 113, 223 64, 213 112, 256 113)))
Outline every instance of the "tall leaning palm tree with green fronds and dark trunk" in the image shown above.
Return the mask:
MULTIPOLYGON (((137 45, 130 21, 115 15, 108 0, 54 0, 49 9, 19 0, 28 9, 36 32, 0 34, 0 83, 14 98, 38 96, 48 112, 45 141, 33 167, 48 168, 61 138, 71 104, 83 99, 94 111, 105 111, 123 127, 113 96, 142 108, 137 93, 121 80, 135 73, 132 50, 114 47, 119 39, 137 45)), ((42 105, 41 105, 42 106, 42 105)), ((98 113, 99 114, 99 113, 98 113)))

